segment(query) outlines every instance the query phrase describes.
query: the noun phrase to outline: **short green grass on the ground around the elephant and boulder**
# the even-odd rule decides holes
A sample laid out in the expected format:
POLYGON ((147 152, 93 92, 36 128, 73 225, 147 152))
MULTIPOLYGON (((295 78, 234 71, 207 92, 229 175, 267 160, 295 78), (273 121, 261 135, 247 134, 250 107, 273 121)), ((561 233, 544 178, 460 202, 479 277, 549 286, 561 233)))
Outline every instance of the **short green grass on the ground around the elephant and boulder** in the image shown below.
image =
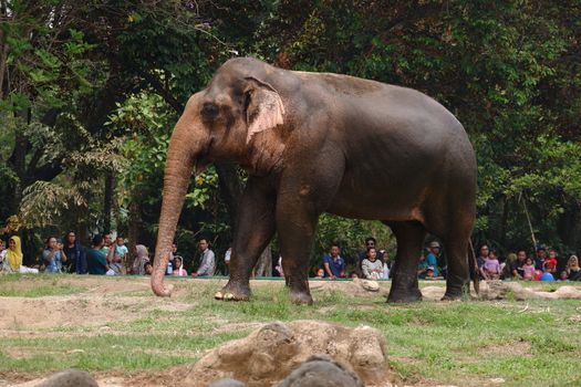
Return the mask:
MULTIPOLYGON (((3 280, 0 292, 13 283, 3 280)), ((41 283, 33 290, 35 280, 22 281, 32 281, 31 294, 50 293, 41 283)), ((212 300, 216 283, 173 284, 178 295, 170 300, 127 293, 152 306, 134 318, 66 331, 55 326, 46 330, 50 337, 2 337, 0 373, 52 372, 63 365, 104 372, 162 369, 194 363, 204 351, 250 331, 228 330, 228 324, 318 320, 377 328, 386 338, 391 367, 406 384, 474 385, 502 378, 505 386, 581 385, 579 300, 388 305, 381 296, 355 299, 338 291, 313 292, 314 306, 298 306, 288 301, 282 283, 255 286, 251 301, 242 303, 212 300), (164 308, 173 303, 186 307, 164 308)), ((556 290, 558 284, 539 286, 556 290)))

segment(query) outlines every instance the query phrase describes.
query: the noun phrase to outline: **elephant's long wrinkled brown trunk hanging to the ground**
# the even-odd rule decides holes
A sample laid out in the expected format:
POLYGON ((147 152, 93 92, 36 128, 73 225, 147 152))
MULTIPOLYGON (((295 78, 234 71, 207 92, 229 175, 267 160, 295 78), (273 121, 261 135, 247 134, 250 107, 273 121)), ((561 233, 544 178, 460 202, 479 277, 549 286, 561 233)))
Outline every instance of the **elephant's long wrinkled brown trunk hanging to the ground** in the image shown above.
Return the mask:
POLYGON ((164 196, 155 248, 154 273, 152 275, 152 290, 159 296, 170 295, 170 291, 164 285, 164 275, 191 170, 208 138, 208 134, 201 126, 200 121, 193 114, 195 108, 190 106, 191 104, 193 101, 190 100, 186 111, 176 124, 167 150, 164 196))

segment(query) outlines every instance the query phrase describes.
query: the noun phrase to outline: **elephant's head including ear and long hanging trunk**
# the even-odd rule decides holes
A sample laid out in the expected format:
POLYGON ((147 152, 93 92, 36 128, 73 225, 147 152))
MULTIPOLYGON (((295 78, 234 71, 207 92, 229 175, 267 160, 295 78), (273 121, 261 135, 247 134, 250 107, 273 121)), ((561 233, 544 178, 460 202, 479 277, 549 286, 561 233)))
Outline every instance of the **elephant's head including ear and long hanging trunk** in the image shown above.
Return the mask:
POLYGON ((193 95, 177 122, 164 178, 164 197, 155 249, 152 289, 167 296, 165 268, 191 170, 212 160, 235 160, 253 169, 274 167, 284 149, 284 103, 268 83, 276 70, 252 59, 225 63, 207 88, 193 95), (276 127, 277 130, 273 130, 276 127))

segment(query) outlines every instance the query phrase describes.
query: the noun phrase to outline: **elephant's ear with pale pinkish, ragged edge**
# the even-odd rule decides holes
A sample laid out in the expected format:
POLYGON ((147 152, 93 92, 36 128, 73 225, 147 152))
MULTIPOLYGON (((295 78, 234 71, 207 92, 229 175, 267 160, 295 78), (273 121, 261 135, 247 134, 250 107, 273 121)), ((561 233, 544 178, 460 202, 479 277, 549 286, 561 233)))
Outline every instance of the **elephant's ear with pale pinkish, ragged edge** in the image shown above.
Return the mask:
POLYGON ((272 129, 284 123, 284 104, 279 93, 266 82, 255 77, 247 77, 248 86, 245 91, 245 109, 248 134, 246 143, 259 132, 272 129))

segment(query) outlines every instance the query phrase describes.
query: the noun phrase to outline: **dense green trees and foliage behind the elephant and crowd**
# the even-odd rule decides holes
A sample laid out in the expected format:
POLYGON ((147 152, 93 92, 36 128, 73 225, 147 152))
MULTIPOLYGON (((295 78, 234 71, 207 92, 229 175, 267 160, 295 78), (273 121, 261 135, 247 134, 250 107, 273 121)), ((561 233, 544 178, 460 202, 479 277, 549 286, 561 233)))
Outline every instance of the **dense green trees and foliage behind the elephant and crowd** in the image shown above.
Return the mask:
MULTIPOLYGON (((103 175, 114 172, 114 212, 139 205, 141 230, 151 237, 177 114, 226 59, 252 54, 433 96, 476 149, 475 242, 528 245, 526 207, 539 241, 581 249, 578 1, 169 0, 120 2, 112 12, 102 2, 59 0, 9 8, 0 23, 0 192, 13 199, 2 219, 20 208, 29 227, 70 223, 79 211, 98 223, 103 175), (31 186, 37 180, 52 185, 31 186)), ((212 167, 191 182, 185 212, 185 241, 218 233, 229 244, 212 167)), ((118 220, 123 228, 126 219, 118 220)), ((333 241, 353 254, 367 234, 393 248, 382 224, 323 216, 315 255, 333 241)))

